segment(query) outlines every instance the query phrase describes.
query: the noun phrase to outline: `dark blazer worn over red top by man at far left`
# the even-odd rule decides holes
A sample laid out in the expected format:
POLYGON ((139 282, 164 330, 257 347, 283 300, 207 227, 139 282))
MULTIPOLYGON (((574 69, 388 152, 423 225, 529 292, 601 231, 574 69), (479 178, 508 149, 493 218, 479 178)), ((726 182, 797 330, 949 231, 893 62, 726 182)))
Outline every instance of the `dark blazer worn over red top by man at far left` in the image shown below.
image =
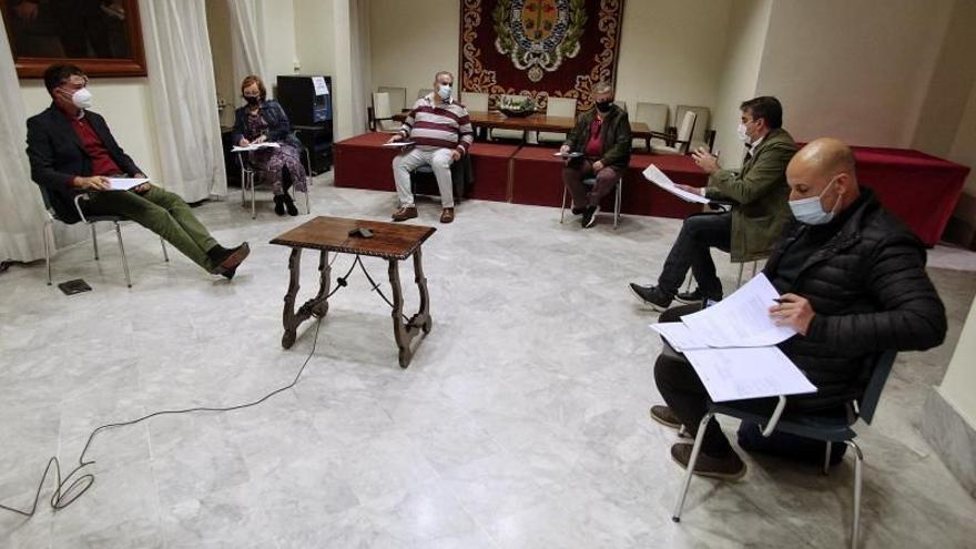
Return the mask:
MULTIPOLYGON (((101 114, 87 110, 84 118, 123 172, 129 175, 142 173, 115 142, 101 114)), ((87 177, 92 174, 91 156, 74 133, 71 121, 53 103, 27 120, 27 155, 31 164, 31 179, 48 191, 50 205, 58 218, 64 223, 81 221, 74 209, 74 196, 82 191, 71 186, 71 181, 79 175, 87 177)))

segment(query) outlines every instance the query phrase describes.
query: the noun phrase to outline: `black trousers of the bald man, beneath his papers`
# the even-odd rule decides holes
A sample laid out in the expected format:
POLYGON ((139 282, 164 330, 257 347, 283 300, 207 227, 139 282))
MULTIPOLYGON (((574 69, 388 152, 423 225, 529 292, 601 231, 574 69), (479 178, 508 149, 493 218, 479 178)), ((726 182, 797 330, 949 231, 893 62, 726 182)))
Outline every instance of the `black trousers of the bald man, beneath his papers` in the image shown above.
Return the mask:
MULTIPOLYGON (((679 322, 682 315, 701 309, 701 304, 672 307, 661 314, 658 322, 679 322)), ((698 435, 698 426, 708 413, 709 394, 684 355, 677 353, 668 343, 654 363, 654 383, 668 406, 684 424, 691 436, 698 435)), ((736 406, 748 407, 758 414, 771 415, 776 407, 775 398, 740 400, 736 406)), ((722 433, 715 418, 712 418, 702 439, 702 451, 722 458, 732 451, 729 439, 722 433)))

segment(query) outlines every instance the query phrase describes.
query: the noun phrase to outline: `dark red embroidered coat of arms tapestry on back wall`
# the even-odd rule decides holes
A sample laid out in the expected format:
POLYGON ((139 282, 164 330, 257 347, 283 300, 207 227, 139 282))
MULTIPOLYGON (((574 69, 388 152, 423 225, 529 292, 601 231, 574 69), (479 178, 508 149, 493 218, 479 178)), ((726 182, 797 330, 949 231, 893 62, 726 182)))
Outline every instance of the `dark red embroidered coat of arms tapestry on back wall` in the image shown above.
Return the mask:
POLYGON ((590 90, 617 79, 623 0, 460 0, 460 90, 549 95, 592 106, 590 90))

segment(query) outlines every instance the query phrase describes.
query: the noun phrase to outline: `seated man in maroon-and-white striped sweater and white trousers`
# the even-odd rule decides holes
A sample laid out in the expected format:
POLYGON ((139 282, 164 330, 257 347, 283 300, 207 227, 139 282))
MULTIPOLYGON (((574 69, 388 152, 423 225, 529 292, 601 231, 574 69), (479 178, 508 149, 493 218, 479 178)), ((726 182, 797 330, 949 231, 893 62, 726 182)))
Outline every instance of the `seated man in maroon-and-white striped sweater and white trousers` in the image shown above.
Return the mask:
POLYGON ((389 142, 410 141, 405 150, 393 159, 393 175, 396 180, 400 209, 394 212, 393 221, 406 221, 417 216, 414 193, 410 191, 410 172, 428 164, 434 170, 437 187, 440 190, 440 222, 454 221, 454 186, 450 164, 468 153, 475 141, 468 110, 451 96, 454 75, 440 71, 434 77, 434 92, 420 98, 414 110, 407 114, 400 132, 389 142))

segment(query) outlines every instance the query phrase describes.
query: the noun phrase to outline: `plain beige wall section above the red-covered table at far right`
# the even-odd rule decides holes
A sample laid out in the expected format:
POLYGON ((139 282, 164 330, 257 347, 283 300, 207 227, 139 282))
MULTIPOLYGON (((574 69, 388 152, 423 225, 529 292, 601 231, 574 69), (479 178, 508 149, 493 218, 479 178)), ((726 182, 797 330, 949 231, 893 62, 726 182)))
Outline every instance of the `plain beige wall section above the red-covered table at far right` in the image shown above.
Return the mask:
POLYGON ((779 0, 759 92, 799 140, 911 146, 953 0, 779 0))

